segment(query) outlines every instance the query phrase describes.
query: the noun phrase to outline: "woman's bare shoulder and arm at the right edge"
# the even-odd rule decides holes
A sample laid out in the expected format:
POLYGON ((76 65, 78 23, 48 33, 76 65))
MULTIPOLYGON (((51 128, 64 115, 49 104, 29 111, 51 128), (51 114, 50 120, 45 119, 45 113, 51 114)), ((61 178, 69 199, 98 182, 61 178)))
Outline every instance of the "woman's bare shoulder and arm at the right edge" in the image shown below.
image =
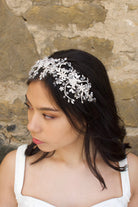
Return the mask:
POLYGON ((131 187, 131 199, 128 207, 136 207, 138 203, 138 156, 129 153, 127 160, 131 187))

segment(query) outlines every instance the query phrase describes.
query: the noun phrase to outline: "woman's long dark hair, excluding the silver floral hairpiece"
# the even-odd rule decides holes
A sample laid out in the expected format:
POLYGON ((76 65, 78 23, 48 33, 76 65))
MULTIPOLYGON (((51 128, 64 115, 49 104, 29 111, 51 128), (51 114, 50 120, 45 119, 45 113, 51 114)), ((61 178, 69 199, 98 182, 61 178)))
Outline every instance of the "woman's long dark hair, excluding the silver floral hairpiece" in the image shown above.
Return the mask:
MULTIPOLYGON (((100 181, 102 187, 106 188, 104 179, 97 169, 97 152, 100 153, 103 160, 111 168, 124 171, 126 166, 119 167, 118 161, 126 157, 126 148, 130 147, 128 143, 123 143, 126 131, 123 121, 117 114, 115 99, 106 69, 96 57, 80 50, 58 51, 50 57, 54 59, 66 57, 68 62, 71 62, 73 68, 85 77, 88 77, 92 84, 92 91, 96 102, 86 101, 82 104, 77 100, 75 104, 71 104, 63 98, 63 94, 58 90, 58 86, 53 85, 52 76, 48 75, 42 80, 50 90, 56 104, 66 114, 72 126, 80 133, 84 133, 84 149, 87 164, 91 172, 100 181), (91 155, 91 149, 93 155, 91 155)), ((29 79, 28 85, 32 81, 34 80, 29 79)), ((39 151, 39 148, 34 143, 31 143, 28 145, 25 154, 31 156, 39 151)), ((34 163, 44 157, 52 156, 53 153, 44 152, 34 163)))

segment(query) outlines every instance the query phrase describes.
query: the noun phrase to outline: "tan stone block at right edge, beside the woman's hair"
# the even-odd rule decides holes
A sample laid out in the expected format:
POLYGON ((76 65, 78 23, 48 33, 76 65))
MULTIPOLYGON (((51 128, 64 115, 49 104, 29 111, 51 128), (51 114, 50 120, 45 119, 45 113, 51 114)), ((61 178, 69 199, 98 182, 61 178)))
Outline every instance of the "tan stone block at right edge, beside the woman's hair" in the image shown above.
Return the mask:
POLYGON ((126 126, 138 127, 138 80, 128 77, 112 82, 112 87, 119 113, 126 126))

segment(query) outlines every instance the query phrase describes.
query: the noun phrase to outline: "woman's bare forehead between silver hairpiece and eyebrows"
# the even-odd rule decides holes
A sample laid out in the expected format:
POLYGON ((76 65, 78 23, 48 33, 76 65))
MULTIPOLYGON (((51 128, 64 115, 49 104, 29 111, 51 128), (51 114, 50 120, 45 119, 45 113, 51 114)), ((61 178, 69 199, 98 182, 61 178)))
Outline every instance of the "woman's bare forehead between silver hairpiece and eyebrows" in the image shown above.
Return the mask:
POLYGON ((52 94, 43 81, 32 81, 27 90, 28 100, 37 106, 53 106, 58 108, 52 94))

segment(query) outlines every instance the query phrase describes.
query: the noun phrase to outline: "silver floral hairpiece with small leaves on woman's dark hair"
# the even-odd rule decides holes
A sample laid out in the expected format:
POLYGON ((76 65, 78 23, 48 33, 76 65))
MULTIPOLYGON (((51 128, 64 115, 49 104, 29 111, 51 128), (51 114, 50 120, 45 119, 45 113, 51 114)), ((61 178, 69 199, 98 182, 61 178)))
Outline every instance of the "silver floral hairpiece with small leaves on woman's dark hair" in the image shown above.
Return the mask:
POLYGON ((67 58, 45 57, 38 60, 29 72, 29 79, 39 78, 42 80, 47 74, 54 77, 53 84, 59 85, 59 90, 64 93, 63 97, 67 98, 68 103, 74 104, 76 99, 80 99, 81 103, 96 101, 93 92, 90 91, 92 85, 89 79, 80 75, 67 61, 67 58))

